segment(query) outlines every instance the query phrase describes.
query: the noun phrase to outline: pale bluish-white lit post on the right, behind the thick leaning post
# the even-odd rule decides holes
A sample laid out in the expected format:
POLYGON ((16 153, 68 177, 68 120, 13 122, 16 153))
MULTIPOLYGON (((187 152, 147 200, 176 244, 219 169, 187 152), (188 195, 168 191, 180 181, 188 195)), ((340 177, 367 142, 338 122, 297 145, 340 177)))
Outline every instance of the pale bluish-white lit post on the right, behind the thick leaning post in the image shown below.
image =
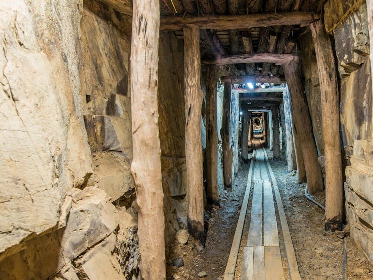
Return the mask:
MULTIPOLYGON (((296 159, 293 142, 292 132, 292 120, 291 120, 291 108, 289 95, 287 91, 282 93, 284 99, 284 112, 285 112, 285 130, 286 130, 286 152, 287 152, 287 172, 291 172, 296 169, 296 159)), ((304 165, 303 165, 304 166, 304 165)))

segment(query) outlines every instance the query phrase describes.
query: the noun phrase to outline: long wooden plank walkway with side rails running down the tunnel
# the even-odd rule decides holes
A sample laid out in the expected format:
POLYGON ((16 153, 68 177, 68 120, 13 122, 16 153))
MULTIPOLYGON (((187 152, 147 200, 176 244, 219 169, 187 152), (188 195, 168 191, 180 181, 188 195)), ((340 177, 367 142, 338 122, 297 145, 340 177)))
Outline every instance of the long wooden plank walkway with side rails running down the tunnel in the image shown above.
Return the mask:
MULTIPOLYGON (((282 280, 285 278, 278 238, 275 203, 273 199, 273 197, 275 197, 285 242, 290 278, 291 280, 300 280, 298 264, 296 262, 294 247, 287 226, 276 178, 270 167, 267 153, 261 147, 253 151, 245 198, 250 195, 251 184, 253 184, 251 219, 247 243, 243 248, 241 279, 282 280), (251 180, 252 177, 253 180, 251 180)), ((248 202, 248 199, 244 199, 241 208, 245 215, 248 202)), ((243 222, 244 220, 243 218, 243 222)), ((234 279, 243 222, 242 220, 241 223, 239 221, 236 228, 235 240, 232 244, 224 280, 234 279), (241 231, 241 234, 237 231, 241 231), (236 235, 237 238, 239 237, 239 240, 236 240, 236 235), (234 255, 232 255, 232 253, 234 255)))

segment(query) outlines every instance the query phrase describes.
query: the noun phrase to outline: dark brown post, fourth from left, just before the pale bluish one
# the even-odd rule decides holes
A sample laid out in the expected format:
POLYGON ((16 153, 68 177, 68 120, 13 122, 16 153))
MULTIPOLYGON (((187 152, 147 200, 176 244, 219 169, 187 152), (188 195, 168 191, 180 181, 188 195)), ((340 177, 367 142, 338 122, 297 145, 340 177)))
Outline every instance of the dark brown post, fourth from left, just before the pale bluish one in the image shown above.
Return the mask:
POLYGON ((226 189, 232 187, 232 164, 233 151, 230 144, 230 103, 232 100, 232 84, 224 83, 223 95, 223 119, 221 125, 221 142, 223 146, 223 173, 224 173, 224 187, 226 189))

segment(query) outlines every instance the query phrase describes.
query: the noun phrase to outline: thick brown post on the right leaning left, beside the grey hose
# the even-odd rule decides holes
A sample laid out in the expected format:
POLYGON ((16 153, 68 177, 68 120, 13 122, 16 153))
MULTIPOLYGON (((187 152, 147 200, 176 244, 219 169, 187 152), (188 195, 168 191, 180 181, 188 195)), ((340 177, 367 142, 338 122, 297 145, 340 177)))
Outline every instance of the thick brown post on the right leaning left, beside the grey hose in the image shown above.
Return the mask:
POLYGON ((308 189, 311 194, 324 189, 323 178, 316 143, 313 139, 311 118, 306 98, 304 96, 304 86, 300 76, 300 65, 298 61, 284 64, 285 78, 290 91, 290 98, 293 108, 294 131, 300 150, 303 154, 305 172, 307 175, 308 189))

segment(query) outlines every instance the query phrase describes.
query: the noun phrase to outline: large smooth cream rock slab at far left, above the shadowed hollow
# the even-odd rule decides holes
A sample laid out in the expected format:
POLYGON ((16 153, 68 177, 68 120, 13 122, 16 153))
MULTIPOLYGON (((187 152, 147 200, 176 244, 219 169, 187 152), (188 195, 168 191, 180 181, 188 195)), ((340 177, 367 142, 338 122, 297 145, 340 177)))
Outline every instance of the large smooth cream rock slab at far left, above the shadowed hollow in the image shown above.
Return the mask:
POLYGON ((41 4, 0 3, 0 259, 65 226, 70 190, 92 173, 79 94, 83 4, 41 4))

